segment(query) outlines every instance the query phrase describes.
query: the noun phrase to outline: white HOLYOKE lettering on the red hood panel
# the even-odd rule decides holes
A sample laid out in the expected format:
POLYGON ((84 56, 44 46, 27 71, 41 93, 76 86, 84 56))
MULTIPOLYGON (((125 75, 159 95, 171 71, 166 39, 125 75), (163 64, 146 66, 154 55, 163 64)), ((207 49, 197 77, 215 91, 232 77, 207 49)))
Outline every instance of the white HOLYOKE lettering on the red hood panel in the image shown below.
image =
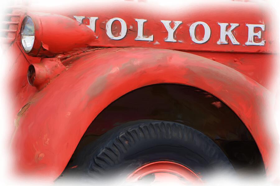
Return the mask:
MULTIPOLYGON (((89 29, 92 31, 96 31, 96 20, 98 17, 86 17, 86 16, 73 16, 80 24, 85 24, 89 29), (85 20, 86 19, 86 20, 85 20)), ((137 30, 137 37, 135 38, 136 41, 153 41, 154 35, 144 35, 144 23, 147 22, 146 19, 134 19, 137 22, 138 30, 137 30)), ((182 40, 176 39, 176 30, 182 24, 182 21, 173 21, 173 28, 171 26, 171 20, 160 20, 161 23, 164 25, 165 29, 167 30, 167 37, 164 38, 165 42, 184 42, 182 40)), ((172 25, 173 25, 172 24, 172 25)), ((238 23, 217 23, 220 25, 220 38, 217 41, 218 45, 221 44, 229 44, 231 42, 233 45, 240 45, 240 42, 236 40, 234 30, 240 26, 238 23), (229 39, 228 39, 229 38, 229 39), (230 41, 229 41, 230 40, 230 41)), ((264 46, 265 40, 262 38, 262 32, 265 31, 264 24, 246 24, 248 27, 248 40, 245 42, 245 45, 253 45, 253 46, 264 46), (260 28, 258 32, 256 32, 255 28, 260 28), (257 40, 257 41, 255 41, 257 40)), ((130 26, 132 28, 132 26, 130 26)), ((114 28, 115 29, 115 28, 114 28)), ((127 33, 127 24, 126 22, 119 18, 115 17, 107 21, 106 23, 106 34, 110 39, 114 40, 121 40, 126 36, 127 33), (113 23, 114 21, 119 21, 121 24, 120 33, 113 35, 113 23), (116 36, 117 35, 117 36, 116 36)), ((203 21, 197 21, 190 25, 189 27, 189 35, 193 42, 198 44, 206 43, 211 37, 211 29, 209 25, 203 21), (198 32, 198 26, 202 25, 204 28, 204 36, 201 37, 196 35, 198 32), (199 39, 199 40, 198 40, 199 39)), ((216 34, 215 34, 216 35, 216 34)), ((241 37, 241 36, 240 36, 241 37)), ((96 37, 97 38, 97 37, 96 37)), ((157 42, 158 43, 158 42, 157 42)))

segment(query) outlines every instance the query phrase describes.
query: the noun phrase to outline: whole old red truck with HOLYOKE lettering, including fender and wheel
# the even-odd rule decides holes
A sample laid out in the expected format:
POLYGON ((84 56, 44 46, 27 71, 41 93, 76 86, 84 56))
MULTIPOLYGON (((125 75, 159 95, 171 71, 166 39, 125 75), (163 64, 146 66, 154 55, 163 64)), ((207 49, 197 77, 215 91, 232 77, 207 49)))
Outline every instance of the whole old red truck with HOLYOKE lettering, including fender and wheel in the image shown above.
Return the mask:
POLYGON ((270 175, 278 30, 263 3, 9 9, 15 170, 48 180, 270 175))

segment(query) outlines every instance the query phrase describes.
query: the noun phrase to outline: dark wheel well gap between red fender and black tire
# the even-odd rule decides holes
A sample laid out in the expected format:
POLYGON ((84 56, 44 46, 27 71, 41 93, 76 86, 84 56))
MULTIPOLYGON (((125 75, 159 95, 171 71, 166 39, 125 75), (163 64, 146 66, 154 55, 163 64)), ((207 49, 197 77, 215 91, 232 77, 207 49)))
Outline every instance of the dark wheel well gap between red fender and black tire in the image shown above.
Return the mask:
POLYGON ((115 100, 91 122, 68 167, 100 135, 141 119, 174 121, 197 129, 219 145, 237 172, 265 174, 259 149, 240 118, 208 92, 180 84, 145 86, 115 100))

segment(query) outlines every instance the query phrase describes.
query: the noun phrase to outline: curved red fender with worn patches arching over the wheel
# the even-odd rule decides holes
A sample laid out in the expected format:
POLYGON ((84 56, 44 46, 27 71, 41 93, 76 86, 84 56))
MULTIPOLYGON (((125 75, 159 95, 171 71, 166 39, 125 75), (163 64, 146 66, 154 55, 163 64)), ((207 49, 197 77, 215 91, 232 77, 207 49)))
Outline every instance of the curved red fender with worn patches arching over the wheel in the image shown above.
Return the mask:
POLYGON ((151 48, 107 48, 76 56, 71 67, 36 93, 18 115, 16 166, 56 179, 94 118, 142 86, 198 87, 227 104, 256 140, 269 171, 274 135, 267 118, 270 93, 242 73, 198 55, 151 48), (74 61, 75 60, 75 61, 74 61))

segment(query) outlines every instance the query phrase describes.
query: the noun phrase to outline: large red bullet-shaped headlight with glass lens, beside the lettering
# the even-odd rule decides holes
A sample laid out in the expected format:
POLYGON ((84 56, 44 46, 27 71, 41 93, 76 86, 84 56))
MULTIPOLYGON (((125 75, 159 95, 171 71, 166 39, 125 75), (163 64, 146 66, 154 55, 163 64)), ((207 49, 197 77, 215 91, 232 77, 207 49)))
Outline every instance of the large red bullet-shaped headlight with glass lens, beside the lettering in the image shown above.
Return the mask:
POLYGON ((28 12, 21 23, 21 46, 30 56, 53 57, 95 42, 96 35, 87 25, 67 16, 28 12))

